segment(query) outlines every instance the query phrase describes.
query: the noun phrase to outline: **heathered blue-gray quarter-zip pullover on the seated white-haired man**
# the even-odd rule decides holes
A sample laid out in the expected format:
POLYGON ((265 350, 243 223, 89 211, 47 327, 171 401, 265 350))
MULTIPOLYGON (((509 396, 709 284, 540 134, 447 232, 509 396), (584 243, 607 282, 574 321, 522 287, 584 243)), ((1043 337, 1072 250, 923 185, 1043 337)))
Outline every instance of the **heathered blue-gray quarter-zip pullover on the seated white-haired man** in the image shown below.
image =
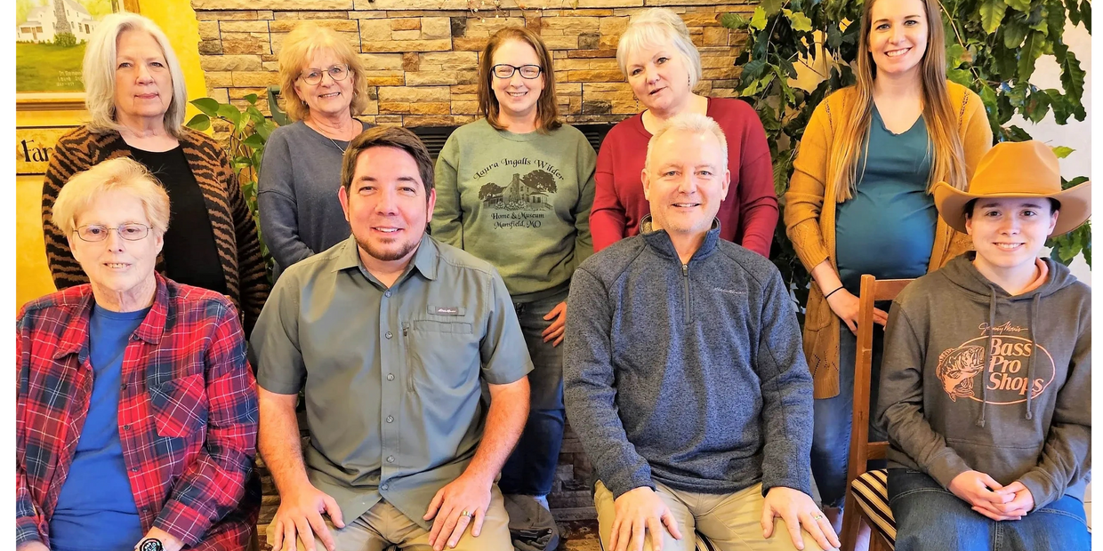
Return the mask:
POLYGON ((685 266, 642 227, 582 262, 567 301, 567 417, 598 476, 613 496, 652 478, 810 493, 812 377, 778 269, 718 223, 685 266))

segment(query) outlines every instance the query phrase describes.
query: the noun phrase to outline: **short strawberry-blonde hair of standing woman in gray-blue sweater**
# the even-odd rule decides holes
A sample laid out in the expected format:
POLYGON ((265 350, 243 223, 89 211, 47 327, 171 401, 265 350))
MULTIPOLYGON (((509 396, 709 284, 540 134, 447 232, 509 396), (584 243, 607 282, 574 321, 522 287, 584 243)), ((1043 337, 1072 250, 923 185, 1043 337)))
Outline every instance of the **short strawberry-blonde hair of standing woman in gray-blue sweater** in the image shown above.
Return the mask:
POLYGON ((331 29, 313 23, 300 23, 288 33, 279 51, 279 84, 283 96, 283 110, 291 120, 302 120, 310 115, 310 107, 295 91, 295 82, 299 79, 303 67, 310 63, 315 52, 329 50, 341 63, 349 66, 349 77, 352 78, 352 101, 349 112, 353 117, 364 112, 370 98, 367 97, 367 78, 364 61, 349 42, 331 29))

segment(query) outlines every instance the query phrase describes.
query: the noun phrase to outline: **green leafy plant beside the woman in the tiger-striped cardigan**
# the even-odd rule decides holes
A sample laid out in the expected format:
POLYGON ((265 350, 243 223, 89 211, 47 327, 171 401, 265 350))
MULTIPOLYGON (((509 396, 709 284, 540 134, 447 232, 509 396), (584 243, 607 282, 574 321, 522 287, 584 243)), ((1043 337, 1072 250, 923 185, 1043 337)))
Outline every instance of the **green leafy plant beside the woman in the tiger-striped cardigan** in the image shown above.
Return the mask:
MULTIPOLYGON (((229 153, 231 166, 237 173, 238 182, 242 185, 242 193, 245 202, 249 205, 249 213, 253 214, 257 223, 257 234, 260 233, 260 219, 257 214, 257 175, 260 173, 260 160, 265 155, 265 143, 268 137, 276 130, 276 122, 265 117, 257 108, 257 95, 245 96, 248 104, 244 110, 232 104, 222 104, 213 98, 200 98, 191 101, 200 114, 188 121, 188 127, 205 131, 211 128, 212 121, 221 120, 228 128, 229 138, 227 151, 229 153)), ((265 245, 264 236, 260 236, 260 251, 271 267, 271 255, 265 245)))

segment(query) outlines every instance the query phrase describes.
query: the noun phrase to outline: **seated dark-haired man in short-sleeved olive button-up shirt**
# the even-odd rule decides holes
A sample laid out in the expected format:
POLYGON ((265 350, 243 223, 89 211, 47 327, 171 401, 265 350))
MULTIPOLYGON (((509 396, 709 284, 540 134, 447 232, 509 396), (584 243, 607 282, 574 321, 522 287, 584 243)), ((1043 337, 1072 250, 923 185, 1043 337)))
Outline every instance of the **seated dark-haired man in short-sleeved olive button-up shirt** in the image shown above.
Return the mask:
POLYGON ((494 269, 425 234, 432 176, 408 130, 353 140, 339 191, 352 237, 283 272, 257 322, 274 549, 512 549, 494 478, 524 428, 532 363, 494 269))

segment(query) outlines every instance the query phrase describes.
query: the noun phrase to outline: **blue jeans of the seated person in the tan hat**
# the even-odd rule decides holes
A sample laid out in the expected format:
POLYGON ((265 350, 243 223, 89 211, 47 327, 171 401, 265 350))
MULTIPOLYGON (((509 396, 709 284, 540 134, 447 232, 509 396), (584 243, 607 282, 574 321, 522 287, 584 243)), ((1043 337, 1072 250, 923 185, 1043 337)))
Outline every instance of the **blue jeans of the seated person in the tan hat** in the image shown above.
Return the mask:
POLYGON ((918 471, 889 469, 897 551, 1086 551, 1084 504, 1063 496, 1021 520, 995 521, 918 471))

